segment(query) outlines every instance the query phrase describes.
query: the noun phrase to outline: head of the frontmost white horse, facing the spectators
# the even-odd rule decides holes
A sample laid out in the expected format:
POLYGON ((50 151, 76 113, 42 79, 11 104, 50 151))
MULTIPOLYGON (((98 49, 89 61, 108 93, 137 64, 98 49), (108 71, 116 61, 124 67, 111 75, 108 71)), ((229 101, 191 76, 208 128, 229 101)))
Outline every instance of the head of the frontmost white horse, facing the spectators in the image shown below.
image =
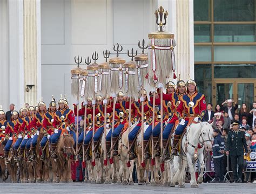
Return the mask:
POLYGON ((212 124, 208 122, 200 122, 201 130, 199 135, 200 143, 204 144, 204 148, 206 151, 212 150, 212 137, 213 137, 213 129, 212 124))

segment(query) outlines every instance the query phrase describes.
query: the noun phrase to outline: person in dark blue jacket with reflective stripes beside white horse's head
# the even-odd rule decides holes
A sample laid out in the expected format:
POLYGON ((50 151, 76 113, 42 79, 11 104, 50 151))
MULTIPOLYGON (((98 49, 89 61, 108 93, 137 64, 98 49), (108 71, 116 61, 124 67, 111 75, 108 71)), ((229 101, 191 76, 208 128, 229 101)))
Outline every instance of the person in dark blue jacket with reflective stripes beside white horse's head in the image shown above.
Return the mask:
POLYGON ((223 183, 224 179, 224 139, 220 135, 219 129, 214 129, 213 141, 213 163, 215 170, 215 179, 211 183, 223 183))

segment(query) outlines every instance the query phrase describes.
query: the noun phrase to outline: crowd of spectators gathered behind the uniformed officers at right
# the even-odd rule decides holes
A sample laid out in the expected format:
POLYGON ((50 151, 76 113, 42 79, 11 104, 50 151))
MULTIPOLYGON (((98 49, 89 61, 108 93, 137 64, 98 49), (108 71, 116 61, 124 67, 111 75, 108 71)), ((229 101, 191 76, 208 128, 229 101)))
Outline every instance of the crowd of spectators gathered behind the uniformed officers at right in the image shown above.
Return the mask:
MULTIPOLYGON (((256 102, 252 103, 252 109, 248 108, 246 103, 242 103, 241 108, 238 109, 238 104, 234 100, 225 100, 222 104, 217 104, 215 106, 215 109, 213 110, 213 106, 211 103, 208 103, 206 114, 204 116, 204 120, 212 123, 213 129, 214 129, 214 141, 218 142, 215 143, 215 145, 219 144, 219 142, 224 142, 224 148, 219 149, 218 153, 213 153, 213 158, 218 158, 218 161, 221 161, 221 164, 224 164, 224 168, 222 165, 217 163, 217 166, 214 166, 215 174, 216 171, 221 171, 221 176, 225 175, 225 173, 228 171, 232 171, 231 164, 232 160, 229 160, 229 165, 227 164, 227 157, 230 158, 230 156, 227 155, 227 138, 228 133, 233 130, 232 122, 238 121, 239 122, 239 131, 243 131, 244 138, 246 141, 247 149, 250 154, 251 151, 256 150, 256 102), (218 133, 219 132, 219 133, 218 133), (221 160, 220 157, 223 157, 221 160), (227 169, 229 167, 229 169, 227 169), (216 169, 217 168, 217 169, 216 169), (223 171, 223 172, 222 172, 223 171)), ((214 145, 213 141, 213 145, 214 145)), ((213 146, 214 147, 214 146, 213 146)), ((242 182, 252 182, 254 181, 255 172, 246 172, 246 166, 247 161, 250 161, 250 156, 245 153, 244 155, 244 176, 242 179, 242 182)), ((214 162, 214 165, 215 165, 214 162)), ((234 161, 233 161, 234 162, 234 161)), ((239 166, 238 166, 239 168, 239 166)), ((219 175, 215 175, 215 179, 213 182, 223 182, 223 178, 220 178, 219 181, 219 175), (216 179, 217 178, 217 179, 216 179)), ((232 177, 233 178, 233 177, 232 177)))

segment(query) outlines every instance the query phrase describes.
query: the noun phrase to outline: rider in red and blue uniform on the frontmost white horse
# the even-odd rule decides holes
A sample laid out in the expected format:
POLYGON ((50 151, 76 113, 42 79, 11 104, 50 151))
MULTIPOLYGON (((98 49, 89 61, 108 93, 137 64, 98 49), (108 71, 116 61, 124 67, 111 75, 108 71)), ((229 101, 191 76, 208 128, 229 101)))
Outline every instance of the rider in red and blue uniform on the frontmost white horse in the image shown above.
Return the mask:
POLYGON ((177 108, 179 125, 174 131, 171 155, 178 154, 177 144, 190 118, 193 119, 193 122, 199 122, 203 119, 206 113, 205 95, 198 93, 196 82, 189 79, 186 86, 187 94, 181 96, 180 103, 177 108))

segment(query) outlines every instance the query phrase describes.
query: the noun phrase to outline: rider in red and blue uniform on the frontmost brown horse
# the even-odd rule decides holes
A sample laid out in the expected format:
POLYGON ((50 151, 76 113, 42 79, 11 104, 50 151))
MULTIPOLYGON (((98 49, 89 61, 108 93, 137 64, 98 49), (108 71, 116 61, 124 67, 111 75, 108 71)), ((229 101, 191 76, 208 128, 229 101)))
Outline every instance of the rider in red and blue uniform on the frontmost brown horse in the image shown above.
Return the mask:
POLYGON ((52 155, 53 159, 57 158, 55 153, 55 149, 57 147, 57 143, 60 135, 62 134, 62 130, 67 130, 70 135, 72 135, 76 145, 76 133, 75 133, 75 115, 73 110, 69 109, 68 101, 62 96, 58 101, 59 108, 55 113, 52 126, 55 128, 54 133, 50 136, 49 141, 51 143, 52 155))

